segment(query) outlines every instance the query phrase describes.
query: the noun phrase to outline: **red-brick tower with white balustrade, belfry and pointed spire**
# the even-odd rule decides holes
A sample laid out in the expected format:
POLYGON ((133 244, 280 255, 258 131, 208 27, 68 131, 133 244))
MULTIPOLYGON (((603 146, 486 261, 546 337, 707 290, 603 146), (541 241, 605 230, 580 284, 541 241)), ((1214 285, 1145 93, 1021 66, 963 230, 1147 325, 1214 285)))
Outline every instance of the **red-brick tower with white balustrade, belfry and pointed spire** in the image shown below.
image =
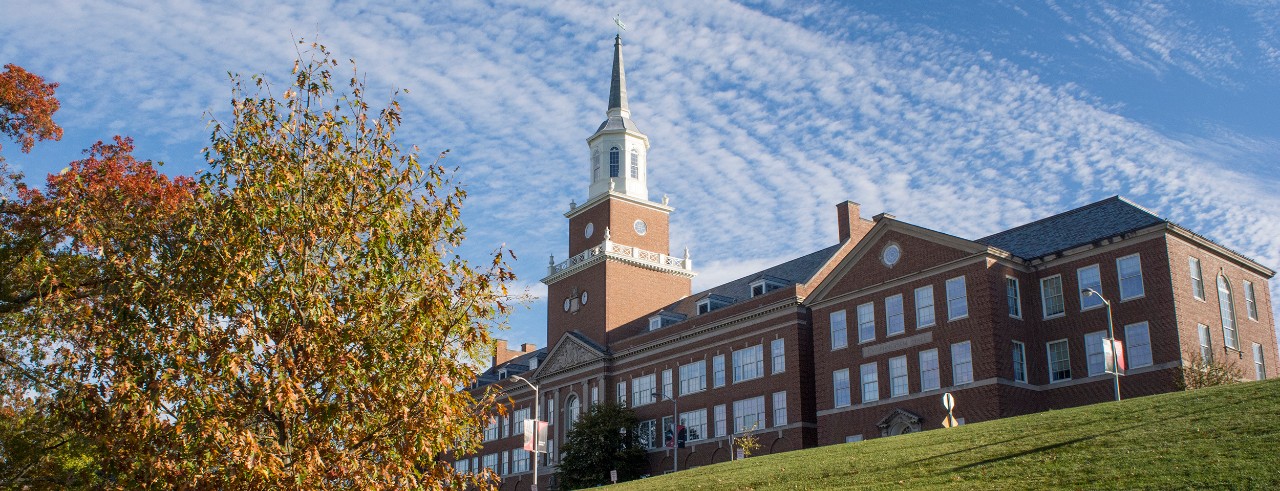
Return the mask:
POLYGON ((571 205, 568 258, 548 265, 547 343, 577 331, 608 347, 609 332, 691 293, 687 251, 671 256, 669 215, 649 201, 649 137, 631 121, 622 37, 613 41, 605 120, 586 139, 588 199, 571 205))

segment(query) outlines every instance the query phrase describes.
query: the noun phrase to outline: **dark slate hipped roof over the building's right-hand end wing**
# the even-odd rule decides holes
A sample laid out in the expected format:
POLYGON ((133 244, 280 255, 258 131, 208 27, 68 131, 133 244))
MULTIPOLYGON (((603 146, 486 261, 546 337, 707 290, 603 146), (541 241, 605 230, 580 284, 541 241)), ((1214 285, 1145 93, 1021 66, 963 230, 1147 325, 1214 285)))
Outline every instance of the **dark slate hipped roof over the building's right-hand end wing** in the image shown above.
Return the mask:
POLYGON ((1112 196, 975 242, 1033 260, 1162 222, 1166 220, 1112 196))

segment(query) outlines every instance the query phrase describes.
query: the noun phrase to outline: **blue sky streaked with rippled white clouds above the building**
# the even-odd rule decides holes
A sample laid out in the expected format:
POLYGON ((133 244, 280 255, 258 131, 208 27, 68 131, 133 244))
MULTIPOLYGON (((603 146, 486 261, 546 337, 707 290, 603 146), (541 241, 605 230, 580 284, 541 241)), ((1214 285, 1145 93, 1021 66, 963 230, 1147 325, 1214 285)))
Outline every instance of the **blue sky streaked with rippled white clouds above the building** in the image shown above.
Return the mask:
MULTIPOLYGON (((547 344, 549 256, 588 197, 621 15, 631 118, 700 290, 837 242, 835 205, 975 239, 1124 196, 1280 269, 1280 1, 0 0, 0 61, 60 83, 41 182, 99 139, 204 168, 229 74, 283 83, 297 40, 355 59, 398 139, 470 197, 547 344)), ((1277 290, 1276 281, 1271 284, 1277 290)), ((554 341, 554 340, 553 340, 554 341)))

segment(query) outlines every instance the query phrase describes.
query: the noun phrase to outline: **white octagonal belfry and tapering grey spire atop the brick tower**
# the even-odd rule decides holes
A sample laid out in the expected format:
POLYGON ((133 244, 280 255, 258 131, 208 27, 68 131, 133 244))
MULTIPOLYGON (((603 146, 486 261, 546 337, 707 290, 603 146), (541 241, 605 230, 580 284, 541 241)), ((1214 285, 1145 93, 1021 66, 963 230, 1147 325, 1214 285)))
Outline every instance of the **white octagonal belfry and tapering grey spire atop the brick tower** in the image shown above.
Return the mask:
POLYGON ((631 121, 621 35, 613 40, 613 79, 609 83, 609 109, 605 115, 600 128, 586 139, 591 150, 590 197, 616 192, 649 199, 649 137, 631 121))

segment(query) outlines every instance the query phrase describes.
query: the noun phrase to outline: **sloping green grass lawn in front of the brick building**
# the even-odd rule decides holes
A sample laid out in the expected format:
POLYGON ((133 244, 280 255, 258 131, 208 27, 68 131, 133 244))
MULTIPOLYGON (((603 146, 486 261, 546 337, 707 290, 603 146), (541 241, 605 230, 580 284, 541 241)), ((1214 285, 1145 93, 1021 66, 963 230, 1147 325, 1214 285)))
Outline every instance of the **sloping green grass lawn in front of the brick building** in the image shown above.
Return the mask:
POLYGON ((1280 380, 700 467, 618 490, 1280 488, 1280 380))

